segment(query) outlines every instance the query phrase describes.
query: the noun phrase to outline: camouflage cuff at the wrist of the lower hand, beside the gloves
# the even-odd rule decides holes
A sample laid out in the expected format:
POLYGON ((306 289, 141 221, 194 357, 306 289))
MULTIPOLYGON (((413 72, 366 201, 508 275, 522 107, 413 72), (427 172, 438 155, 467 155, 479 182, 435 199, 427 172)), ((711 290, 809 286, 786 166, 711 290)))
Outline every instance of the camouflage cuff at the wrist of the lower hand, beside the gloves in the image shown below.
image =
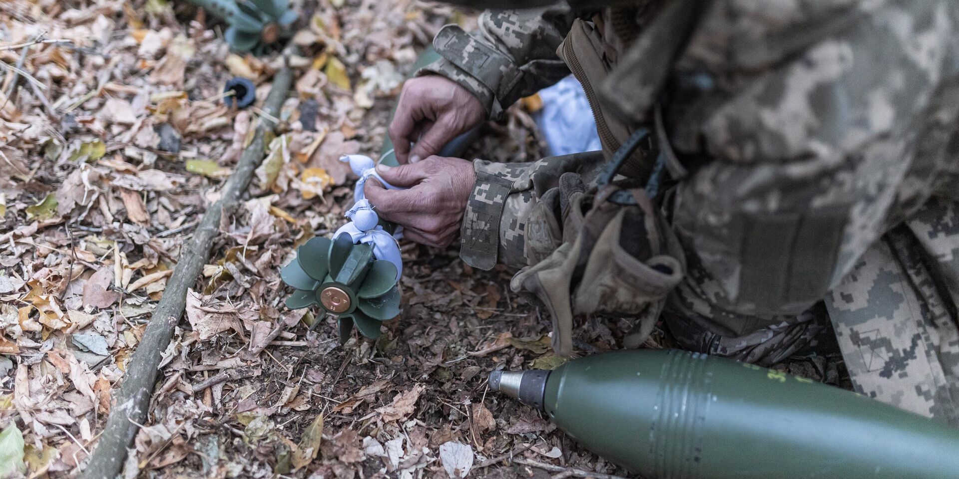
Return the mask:
POLYGON ((509 178, 477 169, 477 182, 466 202, 463 226, 459 231, 459 256, 467 264, 479 269, 492 269, 496 265, 500 219, 512 186, 513 181, 509 178))

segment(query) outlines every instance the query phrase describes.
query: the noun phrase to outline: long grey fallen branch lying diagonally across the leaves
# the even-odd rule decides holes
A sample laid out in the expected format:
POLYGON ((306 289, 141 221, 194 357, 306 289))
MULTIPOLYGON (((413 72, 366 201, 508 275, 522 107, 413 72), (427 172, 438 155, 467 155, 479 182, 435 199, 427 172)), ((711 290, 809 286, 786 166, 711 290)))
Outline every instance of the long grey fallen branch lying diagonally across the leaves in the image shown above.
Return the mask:
MULTIPOLYGON (((264 104, 264 110, 272 117, 280 116, 280 108, 287 98, 292 76, 292 68, 288 65, 273 77, 273 85, 264 104)), ((193 239, 183 246, 173 275, 167 281, 163 298, 153 310, 143 339, 130 359, 100 443, 83 471, 83 479, 116 477, 123 468, 127 447, 136 436, 137 424, 147 422, 147 411, 159 372, 158 365, 186 307, 187 289, 197 282, 203 264, 210 258, 210 249, 220 231, 220 218, 224 212, 236 208, 241 194, 246 192, 253 171, 263 161, 267 133, 274 126, 265 120, 260 121, 252 143, 244 150, 236 170, 223 185, 221 199, 206 211, 193 239)))

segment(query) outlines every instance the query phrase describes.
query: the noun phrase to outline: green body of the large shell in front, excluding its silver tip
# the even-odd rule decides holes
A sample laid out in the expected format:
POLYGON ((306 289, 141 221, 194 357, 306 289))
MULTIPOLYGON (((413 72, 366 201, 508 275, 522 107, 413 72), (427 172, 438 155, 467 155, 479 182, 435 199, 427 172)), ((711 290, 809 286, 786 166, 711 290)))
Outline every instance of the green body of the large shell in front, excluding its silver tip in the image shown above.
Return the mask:
POLYGON ((959 429, 705 354, 573 359, 547 378, 544 409, 580 444, 650 479, 959 477, 959 429))

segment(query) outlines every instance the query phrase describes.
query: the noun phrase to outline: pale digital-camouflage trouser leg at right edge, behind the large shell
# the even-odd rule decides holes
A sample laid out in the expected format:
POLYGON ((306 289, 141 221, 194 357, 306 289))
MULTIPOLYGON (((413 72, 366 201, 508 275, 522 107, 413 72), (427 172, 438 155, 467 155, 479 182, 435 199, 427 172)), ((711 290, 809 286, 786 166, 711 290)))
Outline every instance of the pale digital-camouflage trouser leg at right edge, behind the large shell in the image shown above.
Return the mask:
POLYGON ((857 392, 959 425, 959 208, 931 201, 827 299, 857 392))

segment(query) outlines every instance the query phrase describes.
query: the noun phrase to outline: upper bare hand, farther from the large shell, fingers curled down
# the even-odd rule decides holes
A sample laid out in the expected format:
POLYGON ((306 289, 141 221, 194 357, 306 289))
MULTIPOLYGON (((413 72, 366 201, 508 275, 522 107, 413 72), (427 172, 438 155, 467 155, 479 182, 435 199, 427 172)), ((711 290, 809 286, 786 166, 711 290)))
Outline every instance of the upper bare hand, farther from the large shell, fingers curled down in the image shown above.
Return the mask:
POLYGON ((485 118, 482 103, 453 80, 439 75, 407 80, 389 125, 396 160, 416 163, 436 154, 485 118), (409 148, 410 143, 415 145, 409 148))

